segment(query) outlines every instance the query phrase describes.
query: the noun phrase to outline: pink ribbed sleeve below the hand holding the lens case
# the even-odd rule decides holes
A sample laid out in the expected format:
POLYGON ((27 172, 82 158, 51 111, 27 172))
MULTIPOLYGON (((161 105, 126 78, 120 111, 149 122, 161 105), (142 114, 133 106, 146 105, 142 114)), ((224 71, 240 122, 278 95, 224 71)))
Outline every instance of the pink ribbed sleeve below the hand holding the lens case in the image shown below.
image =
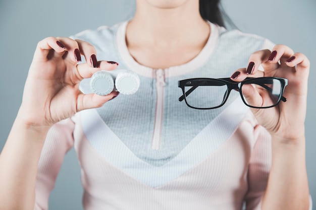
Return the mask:
POLYGON ((53 125, 41 151, 35 184, 35 210, 48 209, 48 197, 55 186, 66 153, 72 148, 74 122, 71 118, 53 125))

